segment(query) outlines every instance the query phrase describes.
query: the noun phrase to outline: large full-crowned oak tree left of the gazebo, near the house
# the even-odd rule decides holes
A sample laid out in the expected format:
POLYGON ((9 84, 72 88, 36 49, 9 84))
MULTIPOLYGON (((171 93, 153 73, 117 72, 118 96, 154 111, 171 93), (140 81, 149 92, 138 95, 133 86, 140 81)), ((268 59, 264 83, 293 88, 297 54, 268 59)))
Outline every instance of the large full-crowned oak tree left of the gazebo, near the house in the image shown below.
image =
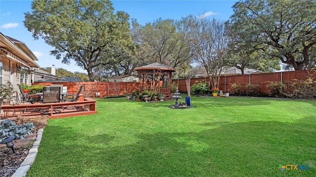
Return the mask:
POLYGON ((55 48, 51 55, 74 60, 93 81, 94 67, 118 62, 133 47, 128 20, 109 0, 34 0, 24 25, 55 48))

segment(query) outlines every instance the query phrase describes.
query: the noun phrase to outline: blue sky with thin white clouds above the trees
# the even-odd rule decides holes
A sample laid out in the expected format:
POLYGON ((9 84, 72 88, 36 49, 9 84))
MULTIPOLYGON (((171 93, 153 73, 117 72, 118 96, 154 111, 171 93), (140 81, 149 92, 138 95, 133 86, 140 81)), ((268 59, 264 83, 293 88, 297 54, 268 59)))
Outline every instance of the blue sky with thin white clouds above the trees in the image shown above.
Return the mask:
MULTIPOLYGON (((145 25, 158 18, 179 20, 190 14, 211 15, 214 18, 228 20, 233 14, 232 6, 237 0, 112 0, 115 10, 125 11, 130 18, 137 19, 138 23, 145 25)), ((32 34, 24 27, 24 12, 31 12, 31 0, 0 0, 0 31, 7 36, 24 42, 37 56, 37 63, 41 67, 57 68, 68 71, 84 72, 75 65, 63 64, 61 60, 49 55, 53 50, 42 39, 34 40, 32 34)))

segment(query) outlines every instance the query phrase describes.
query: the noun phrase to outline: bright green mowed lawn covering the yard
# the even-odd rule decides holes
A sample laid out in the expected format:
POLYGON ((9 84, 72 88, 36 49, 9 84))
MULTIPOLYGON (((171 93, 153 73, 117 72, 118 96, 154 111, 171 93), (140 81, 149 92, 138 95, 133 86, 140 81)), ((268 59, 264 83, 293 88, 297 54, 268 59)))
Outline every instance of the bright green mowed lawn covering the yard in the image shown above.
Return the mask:
POLYGON ((315 100, 170 104, 99 99, 97 115, 49 119, 27 177, 315 177, 315 100))

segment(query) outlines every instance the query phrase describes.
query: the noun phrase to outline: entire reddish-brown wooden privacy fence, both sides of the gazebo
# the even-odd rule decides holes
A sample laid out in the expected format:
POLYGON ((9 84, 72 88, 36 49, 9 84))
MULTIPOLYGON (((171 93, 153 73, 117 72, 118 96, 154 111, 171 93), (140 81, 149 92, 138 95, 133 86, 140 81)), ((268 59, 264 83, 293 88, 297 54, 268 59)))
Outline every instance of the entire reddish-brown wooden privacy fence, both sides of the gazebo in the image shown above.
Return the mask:
MULTIPOLYGON (((224 92, 230 92, 231 84, 236 83, 240 84, 241 91, 244 91, 244 86, 250 83, 258 84, 260 93, 269 93, 267 88, 269 81, 292 82, 293 79, 305 80, 308 76, 308 70, 221 76, 219 81, 219 89, 223 90, 224 92)), ((209 82, 209 78, 192 78, 190 87, 194 85, 196 81, 209 82)), ((178 84, 179 91, 187 92, 186 79, 173 79, 172 82, 178 84)), ((76 94, 79 90, 79 87, 84 85, 83 93, 85 94, 85 97, 96 97, 96 92, 100 92, 100 96, 123 95, 125 94, 125 91, 127 93, 131 93, 135 90, 138 90, 140 87, 138 82, 35 82, 33 85, 39 84, 45 86, 50 86, 51 84, 63 85, 67 87, 68 94, 76 94)), ((165 90, 165 92, 166 91, 167 90, 165 90)))

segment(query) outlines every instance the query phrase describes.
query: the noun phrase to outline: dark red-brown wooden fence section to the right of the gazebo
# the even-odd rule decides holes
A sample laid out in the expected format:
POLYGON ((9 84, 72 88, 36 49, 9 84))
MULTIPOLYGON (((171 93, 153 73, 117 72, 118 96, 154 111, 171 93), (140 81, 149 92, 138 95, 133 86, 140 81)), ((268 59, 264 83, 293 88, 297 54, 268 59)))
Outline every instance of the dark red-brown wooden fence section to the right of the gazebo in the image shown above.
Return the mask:
MULTIPOLYGON (((225 93, 230 92, 231 84, 236 83, 241 85, 241 92, 245 90, 246 84, 258 84, 260 93, 269 93, 267 85, 269 81, 276 82, 292 82, 294 79, 305 80, 310 74, 309 70, 303 71, 286 71, 262 74, 249 74, 249 75, 234 75, 234 76, 221 76, 219 80, 219 89, 225 93)), ((315 75, 314 75, 315 77, 315 75)), ((316 79, 316 78, 315 78, 316 79)), ((209 82, 208 77, 192 78, 190 86, 194 85, 196 81, 209 82)), ((174 79, 172 82, 178 84, 179 91, 187 92, 186 79, 174 79)))

